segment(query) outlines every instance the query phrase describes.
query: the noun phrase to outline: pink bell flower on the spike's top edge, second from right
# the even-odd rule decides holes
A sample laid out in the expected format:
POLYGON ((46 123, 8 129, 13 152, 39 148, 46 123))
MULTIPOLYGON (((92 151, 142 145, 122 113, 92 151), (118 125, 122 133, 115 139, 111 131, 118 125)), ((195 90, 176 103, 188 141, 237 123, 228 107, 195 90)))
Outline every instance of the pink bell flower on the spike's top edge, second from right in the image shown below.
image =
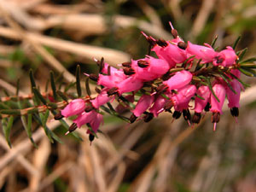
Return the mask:
POLYGON ((215 50, 212 49, 210 45, 207 47, 197 44, 191 44, 189 41, 186 50, 189 55, 195 55, 196 59, 201 59, 202 63, 212 62, 217 55, 217 52, 215 52, 215 50))

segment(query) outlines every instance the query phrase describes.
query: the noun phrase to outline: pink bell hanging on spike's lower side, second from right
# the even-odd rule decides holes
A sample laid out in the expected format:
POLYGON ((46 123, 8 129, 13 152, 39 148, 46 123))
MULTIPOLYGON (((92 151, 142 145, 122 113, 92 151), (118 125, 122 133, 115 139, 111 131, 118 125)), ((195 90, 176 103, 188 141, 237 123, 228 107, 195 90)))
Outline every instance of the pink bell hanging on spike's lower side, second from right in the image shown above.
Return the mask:
POLYGON ((211 112, 212 113, 222 113, 222 107, 225 100, 226 91, 223 84, 214 84, 212 86, 212 90, 214 91, 215 95, 218 97, 218 100, 211 94, 211 112))

